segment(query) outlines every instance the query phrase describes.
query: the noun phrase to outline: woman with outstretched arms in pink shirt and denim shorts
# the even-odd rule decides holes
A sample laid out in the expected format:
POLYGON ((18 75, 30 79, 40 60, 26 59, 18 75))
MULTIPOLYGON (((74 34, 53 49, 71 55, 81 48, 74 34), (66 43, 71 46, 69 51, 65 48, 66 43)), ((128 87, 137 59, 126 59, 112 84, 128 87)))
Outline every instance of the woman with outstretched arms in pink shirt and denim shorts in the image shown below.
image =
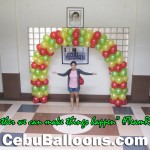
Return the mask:
POLYGON ((60 76, 68 76, 68 91, 70 92, 71 109, 73 109, 74 106, 74 97, 76 99, 76 107, 78 109, 79 91, 80 91, 80 82, 79 82, 80 74, 96 75, 97 73, 88 73, 80 69, 77 69, 77 63, 75 61, 72 61, 70 65, 71 65, 71 69, 67 70, 65 73, 57 73, 57 72, 52 72, 52 73, 58 74, 60 76))

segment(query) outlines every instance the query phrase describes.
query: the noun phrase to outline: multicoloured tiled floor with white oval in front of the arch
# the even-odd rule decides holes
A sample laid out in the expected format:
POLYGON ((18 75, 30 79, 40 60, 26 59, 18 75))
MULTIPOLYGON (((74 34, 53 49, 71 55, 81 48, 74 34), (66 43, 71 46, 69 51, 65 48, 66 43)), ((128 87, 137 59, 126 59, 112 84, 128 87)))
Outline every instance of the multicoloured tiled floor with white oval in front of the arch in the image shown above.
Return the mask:
MULTIPOLYGON (((17 102, 17 101, 0 101, 0 118, 9 116, 15 120, 40 120, 43 123, 45 120, 66 119, 68 116, 74 116, 76 120, 83 119, 91 120, 94 116, 96 120, 106 119, 115 120, 115 125, 107 125, 105 128, 99 125, 87 125, 81 129, 81 125, 63 126, 56 125, 18 125, 15 124, 2 126, 0 125, 0 149, 49 149, 49 147, 16 147, 15 145, 4 146, 2 137, 9 133, 13 137, 22 137, 25 133, 29 137, 39 137, 42 134, 51 134, 53 137, 61 136, 62 134, 72 134, 72 137, 109 137, 114 141, 117 137, 147 137, 150 145, 150 126, 148 125, 122 125, 122 119, 125 116, 132 116, 132 119, 144 120, 145 116, 150 116, 150 104, 128 104, 123 107, 114 107, 107 103, 81 103, 79 110, 74 108, 70 110, 70 103, 64 102, 49 102, 47 104, 33 104, 32 102, 17 102), (120 119, 116 120, 117 117, 120 119)), ((99 150, 149 150, 148 146, 71 146, 71 147, 55 147, 50 149, 99 149, 99 150)))

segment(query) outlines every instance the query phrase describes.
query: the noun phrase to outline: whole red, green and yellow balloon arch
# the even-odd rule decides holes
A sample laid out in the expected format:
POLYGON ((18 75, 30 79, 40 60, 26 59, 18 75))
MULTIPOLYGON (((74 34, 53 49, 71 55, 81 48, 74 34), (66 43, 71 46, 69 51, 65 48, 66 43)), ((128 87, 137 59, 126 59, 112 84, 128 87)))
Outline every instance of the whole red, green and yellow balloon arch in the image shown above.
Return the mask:
POLYGON ((109 102, 116 106, 127 104, 127 63, 124 61, 122 52, 117 49, 113 40, 108 40, 105 34, 85 28, 63 28, 45 34, 37 50, 34 52, 31 64, 31 84, 33 102, 46 103, 48 100, 48 65, 50 57, 55 49, 60 46, 85 46, 98 50, 108 65, 110 72, 110 99, 109 102))

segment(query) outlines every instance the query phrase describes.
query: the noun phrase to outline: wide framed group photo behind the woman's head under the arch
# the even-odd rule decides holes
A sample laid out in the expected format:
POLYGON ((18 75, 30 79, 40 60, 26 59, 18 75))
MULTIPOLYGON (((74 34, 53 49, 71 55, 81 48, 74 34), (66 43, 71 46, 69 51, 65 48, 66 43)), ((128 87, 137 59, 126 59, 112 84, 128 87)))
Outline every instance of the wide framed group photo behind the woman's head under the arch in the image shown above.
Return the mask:
POLYGON ((89 64, 89 48, 83 46, 62 46, 62 64, 70 64, 76 61, 77 64, 89 64))

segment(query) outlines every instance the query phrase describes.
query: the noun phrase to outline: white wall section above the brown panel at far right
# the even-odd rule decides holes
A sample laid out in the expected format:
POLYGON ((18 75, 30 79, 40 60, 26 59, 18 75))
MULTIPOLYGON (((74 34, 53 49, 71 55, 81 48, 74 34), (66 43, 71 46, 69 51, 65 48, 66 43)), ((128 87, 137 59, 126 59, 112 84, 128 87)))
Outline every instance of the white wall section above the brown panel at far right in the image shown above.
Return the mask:
POLYGON ((134 75, 150 75, 149 6, 149 0, 137 0, 134 75))

